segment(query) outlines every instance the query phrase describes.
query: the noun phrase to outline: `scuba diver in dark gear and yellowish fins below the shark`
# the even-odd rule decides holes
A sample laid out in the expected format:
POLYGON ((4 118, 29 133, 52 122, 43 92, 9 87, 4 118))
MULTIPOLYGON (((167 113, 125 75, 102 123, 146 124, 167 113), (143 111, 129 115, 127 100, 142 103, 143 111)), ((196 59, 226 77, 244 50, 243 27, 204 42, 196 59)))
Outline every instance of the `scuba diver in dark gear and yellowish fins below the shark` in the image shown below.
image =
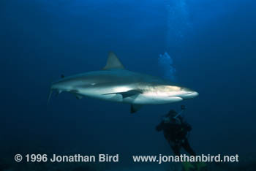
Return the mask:
MULTIPOLYGON (((181 112, 176 113, 175 110, 170 110, 163 118, 162 121, 157 125, 157 132, 163 132, 165 139, 167 140, 170 148, 172 148, 173 153, 176 156, 181 155, 181 148, 184 148, 187 153, 191 156, 196 156, 195 151, 189 145, 189 132, 192 130, 192 126, 189 123, 184 121, 184 118, 181 114, 184 112, 186 107, 181 105, 181 112)), ((197 170, 206 169, 206 164, 202 162, 197 162, 195 166, 190 162, 183 162, 184 170, 190 170, 195 168, 197 170)))

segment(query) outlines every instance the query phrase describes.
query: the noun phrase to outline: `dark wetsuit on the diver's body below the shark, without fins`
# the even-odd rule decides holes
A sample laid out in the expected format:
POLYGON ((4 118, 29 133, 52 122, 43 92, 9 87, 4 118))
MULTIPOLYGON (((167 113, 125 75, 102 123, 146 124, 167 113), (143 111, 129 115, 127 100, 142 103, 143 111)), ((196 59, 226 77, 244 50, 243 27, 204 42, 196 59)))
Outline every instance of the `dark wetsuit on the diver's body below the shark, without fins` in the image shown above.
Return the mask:
POLYGON ((192 130, 192 127, 184 122, 181 116, 171 118, 170 121, 162 121, 156 129, 157 132, 164 132, 165 139, 175 155, 180 156, 180 150, 184 148, 190 155, 195 156, 195 151, 192 150, 187 140, 187 133, 192 130))

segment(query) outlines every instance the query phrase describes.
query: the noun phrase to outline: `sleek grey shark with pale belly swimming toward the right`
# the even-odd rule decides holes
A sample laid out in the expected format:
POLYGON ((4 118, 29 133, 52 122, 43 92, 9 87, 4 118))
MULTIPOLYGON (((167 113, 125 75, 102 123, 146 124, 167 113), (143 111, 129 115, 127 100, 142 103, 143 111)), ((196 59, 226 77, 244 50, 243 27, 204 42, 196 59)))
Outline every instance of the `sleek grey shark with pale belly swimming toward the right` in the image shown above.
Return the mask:
POLYGON ((197 91, 178 86, 160 77, 132 72, 124 68, 115 53, 108 54, 105 67, 99 71, 64 77, 51 83, 50 96, 56 91, 69 92, 77 99, 89 96, 111 102, 130 104, 130 113, 136 113, 145 104, 168 104, 192 99, 197 91))

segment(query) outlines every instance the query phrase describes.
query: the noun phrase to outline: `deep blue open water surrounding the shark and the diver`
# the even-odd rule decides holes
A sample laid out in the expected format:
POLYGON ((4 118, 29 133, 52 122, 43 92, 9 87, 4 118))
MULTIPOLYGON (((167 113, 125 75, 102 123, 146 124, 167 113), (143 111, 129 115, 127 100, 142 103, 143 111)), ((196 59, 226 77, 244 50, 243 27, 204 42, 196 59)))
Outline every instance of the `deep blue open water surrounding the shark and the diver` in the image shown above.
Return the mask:
POLYGON ((197 153, 256 152, 255 1, 8 0, 0 8, 0 153, 120 153, 124 165, 135 153, 171 153, 154 127, 181 104, 197 153), (110 50, 127 69, 176 77, 200 96, 135 115, 128 104, 71 94, 46 105, 53 80, 102 69, 110 50), (159 65, 164 53, 175 72, 159 65))

